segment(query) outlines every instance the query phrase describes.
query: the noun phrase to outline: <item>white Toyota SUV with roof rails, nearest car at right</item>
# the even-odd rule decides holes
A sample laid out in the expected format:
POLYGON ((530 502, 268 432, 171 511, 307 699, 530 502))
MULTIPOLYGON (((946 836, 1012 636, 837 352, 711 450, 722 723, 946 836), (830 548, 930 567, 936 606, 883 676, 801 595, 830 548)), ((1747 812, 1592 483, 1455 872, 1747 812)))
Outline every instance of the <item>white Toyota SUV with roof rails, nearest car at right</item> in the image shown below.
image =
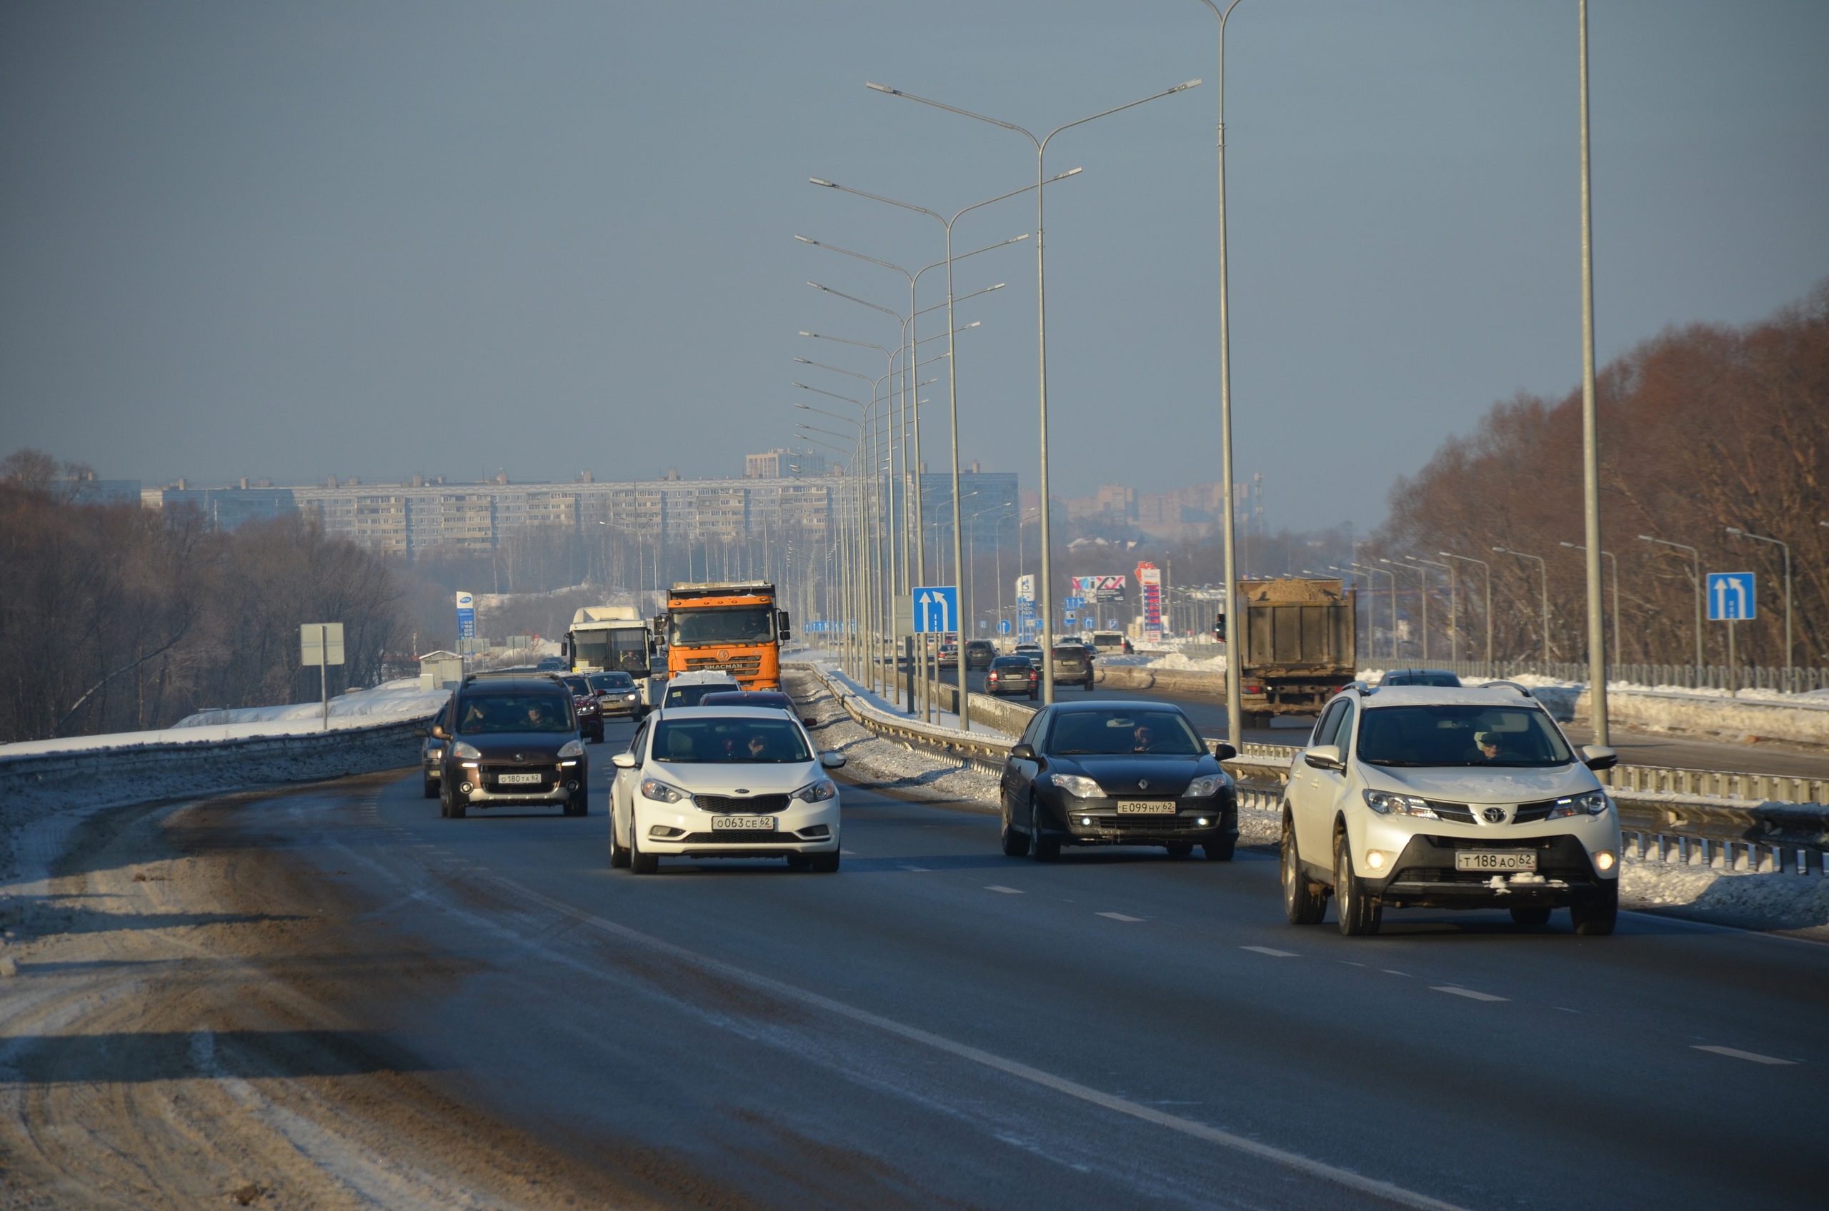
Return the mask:
POLYGON ((1613 931, 1619 810, 1595 777, 1619 757, 1575 752, 1531 693, 1355 682, 1335 695, 1289 768, 1282 900, 1313 926, 1377 933, 1386 907, 1511 909, 1542 926, 1613 931))

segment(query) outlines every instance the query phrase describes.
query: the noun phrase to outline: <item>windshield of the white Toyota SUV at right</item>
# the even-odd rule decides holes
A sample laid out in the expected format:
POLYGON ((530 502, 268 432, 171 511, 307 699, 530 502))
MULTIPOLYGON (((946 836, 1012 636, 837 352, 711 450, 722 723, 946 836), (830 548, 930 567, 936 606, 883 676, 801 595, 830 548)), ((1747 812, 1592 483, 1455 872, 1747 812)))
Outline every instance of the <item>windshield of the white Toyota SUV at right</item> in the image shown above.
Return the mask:
POLYGON ((1518 706, 1379 706, 1359 724, 1370 765, 1542 766, 1575 759, 1549 715, 1518 706))

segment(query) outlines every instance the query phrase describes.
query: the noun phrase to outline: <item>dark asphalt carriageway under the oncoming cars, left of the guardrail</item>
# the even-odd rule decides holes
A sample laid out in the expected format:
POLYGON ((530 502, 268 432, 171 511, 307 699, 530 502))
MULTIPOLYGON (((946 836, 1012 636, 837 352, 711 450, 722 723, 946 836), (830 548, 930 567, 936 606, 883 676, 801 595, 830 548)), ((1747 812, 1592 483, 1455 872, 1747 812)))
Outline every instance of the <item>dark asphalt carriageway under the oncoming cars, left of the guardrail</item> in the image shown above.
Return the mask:
POLYGON ((258 838, 388 938, 357 1026, 664 1204, 1820 1206, 1825 946, 1641 915, 1342 938, 1282 920, 1267 851, 1011 860, 991 816, 856 787, 838 874, 631 876, 627 735, 589 748, 587 818, 441 820, 413 772, 258 838))

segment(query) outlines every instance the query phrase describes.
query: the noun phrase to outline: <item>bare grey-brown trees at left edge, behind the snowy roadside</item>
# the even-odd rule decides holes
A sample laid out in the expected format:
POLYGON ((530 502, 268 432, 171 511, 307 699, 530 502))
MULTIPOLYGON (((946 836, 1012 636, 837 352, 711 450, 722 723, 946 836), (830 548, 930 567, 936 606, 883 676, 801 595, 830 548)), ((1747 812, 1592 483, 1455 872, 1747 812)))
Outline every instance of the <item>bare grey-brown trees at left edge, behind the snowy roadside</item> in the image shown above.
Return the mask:
POLYGON ((70 503, 59 485, 86 472, 37 450, 0 461, 0 741, 316 697, 302 622, 344 624, 331 693, 410 655, 384 556, 305 518, 218 532, 190 510, 70 503))

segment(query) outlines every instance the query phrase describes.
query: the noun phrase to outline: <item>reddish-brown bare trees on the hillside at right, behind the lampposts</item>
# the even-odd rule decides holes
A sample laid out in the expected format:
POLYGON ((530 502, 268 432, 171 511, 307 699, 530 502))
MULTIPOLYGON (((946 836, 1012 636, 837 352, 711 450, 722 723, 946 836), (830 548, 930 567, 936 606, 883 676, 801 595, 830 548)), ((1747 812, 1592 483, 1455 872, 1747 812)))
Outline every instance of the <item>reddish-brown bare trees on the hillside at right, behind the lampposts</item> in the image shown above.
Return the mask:
MULTIPOLYGON (((1602 551, 1619 567, 1620 659, 1688 664, 1695 659, 1694 562, 1701 573, 1758 573, 1756 622, 1738 624, 1741 664, 1785 664, 1789 543, 1796 664, 1824 664, 1829 642, 1829 284, 1802 304, 1745 329, 1692 326, 1646 340, 1599 377, 1602 551)), ((1441 560, 1439 551, 1492 569, 1492 646, 1498 659, 1542 651, 1538 563, 1547 562, 1549 648, 1556 660, 1586 655, 1582 552, 1582 401, 1520 395, 1494 404, 1471 437, 1445 443, 1414 479, 1390 494, 1379 554, 1441 560)), ((1461 573, 1461 653, 1481 657, 1483 584, 1461 573)), ((1430 569, 1432 657, 1449 651, 1445 573, 1430 569)), ((1606 562, 1608 627, 1613 562, 1606 562)), ((1399 573, 1412 627, 1417 576, 1399 573)), ((1385 585, 1383 576, 1379 585, 1385 585)), ((1375 615, 1383 624, 1383 613, 1375 615)), ((1703 622, 1706 662, 1727 664, 1725 624, 1703 622)), ((1611 637, 1610 637, 1611 655, 1611 637)), ((1407 655, 1416 655, 1412 644, 1407 655)))

